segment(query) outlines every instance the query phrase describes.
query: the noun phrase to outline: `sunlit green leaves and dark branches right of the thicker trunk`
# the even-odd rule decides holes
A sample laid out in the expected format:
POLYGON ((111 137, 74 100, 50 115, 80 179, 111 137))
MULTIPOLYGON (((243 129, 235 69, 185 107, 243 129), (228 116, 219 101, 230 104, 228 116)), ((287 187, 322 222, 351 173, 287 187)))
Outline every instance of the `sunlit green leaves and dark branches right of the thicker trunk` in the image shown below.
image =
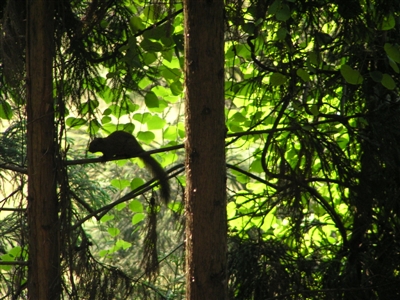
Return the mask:
POLYGON ((351 4, 354 10, 342 1, 238 1, 227 9, 230 28, 242 29, 226 55, 230 163, 242 183, 228 205, 229 224, 242 239, 239 251, 256 255, 250 269, 232 258, 240 299, 400 293, 393 259, 400 7, 351 4))

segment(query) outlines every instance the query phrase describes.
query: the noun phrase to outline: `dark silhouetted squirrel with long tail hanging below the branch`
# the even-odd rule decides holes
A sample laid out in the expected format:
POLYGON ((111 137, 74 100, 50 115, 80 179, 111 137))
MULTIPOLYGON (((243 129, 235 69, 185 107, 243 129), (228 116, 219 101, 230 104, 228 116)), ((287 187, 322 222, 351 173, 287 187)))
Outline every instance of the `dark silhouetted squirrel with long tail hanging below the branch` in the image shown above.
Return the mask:
MULTIPOLYGON (((102 152, 103 159, 108 160, 113 157, 129 158, 135 155, 145 153, 142 146, 138 143, 136 138, 125 131, 114 131, 106 138, 95 138, 89 144, 89 151, 102 152)), ((150 155, 143 155, 139 157, 146 168, 150 170, 153 175, 159 180, 161 185, 161 197, 165 203, 168 203, 170 196, 170 187, 168 182, 167 173, 161 165, 150 155)))

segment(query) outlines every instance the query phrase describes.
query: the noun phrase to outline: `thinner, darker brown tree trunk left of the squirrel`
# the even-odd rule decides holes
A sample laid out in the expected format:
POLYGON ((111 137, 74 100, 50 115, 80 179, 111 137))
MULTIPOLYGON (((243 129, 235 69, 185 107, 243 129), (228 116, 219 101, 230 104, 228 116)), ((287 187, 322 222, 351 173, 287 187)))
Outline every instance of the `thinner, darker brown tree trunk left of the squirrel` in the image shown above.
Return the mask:
POLYGON ((29 299, 60 298, 54 147, 53 0, 27 1, 29 299))

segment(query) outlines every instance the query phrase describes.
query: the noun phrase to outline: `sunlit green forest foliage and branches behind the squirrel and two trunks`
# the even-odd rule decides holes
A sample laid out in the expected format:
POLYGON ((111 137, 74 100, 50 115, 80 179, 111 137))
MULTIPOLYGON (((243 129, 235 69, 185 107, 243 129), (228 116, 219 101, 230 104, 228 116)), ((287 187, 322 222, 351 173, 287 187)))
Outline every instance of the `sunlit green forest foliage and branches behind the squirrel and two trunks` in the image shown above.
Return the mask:
MULTIPOLYGON (((400 297, 399 1, 197 2, 224 5, 227 297, 400 297)), ((200 37, 185 36, 183 3, 57 1, 40 31, 27 7, 0 7, 0 296, 32 295, 43 259, 59 266, 57 298, 185 298, 184 41, 200 37), (54 47, 34 48, 42 31, 54 47), (32 97, 41 80, 50 92, 32 97), (35 108, 53 120, 31 136, 35 108), (157 148, 167 206, 137 158, 87 153, 115 130, 157 148), (46 155, 51 201, 32 211, 30 166, 46 155), (40 214, 54 252, 33 247, 40 214)))

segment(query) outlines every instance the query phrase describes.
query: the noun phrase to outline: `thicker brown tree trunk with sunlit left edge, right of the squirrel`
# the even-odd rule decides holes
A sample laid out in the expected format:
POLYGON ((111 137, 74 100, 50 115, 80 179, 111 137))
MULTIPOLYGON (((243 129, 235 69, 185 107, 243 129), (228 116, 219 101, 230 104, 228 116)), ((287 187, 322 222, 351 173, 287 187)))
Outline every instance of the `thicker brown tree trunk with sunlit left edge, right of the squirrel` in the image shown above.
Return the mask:
POLYGON ((186 0, 186 299, 227 299, 223 0, 186 0))

